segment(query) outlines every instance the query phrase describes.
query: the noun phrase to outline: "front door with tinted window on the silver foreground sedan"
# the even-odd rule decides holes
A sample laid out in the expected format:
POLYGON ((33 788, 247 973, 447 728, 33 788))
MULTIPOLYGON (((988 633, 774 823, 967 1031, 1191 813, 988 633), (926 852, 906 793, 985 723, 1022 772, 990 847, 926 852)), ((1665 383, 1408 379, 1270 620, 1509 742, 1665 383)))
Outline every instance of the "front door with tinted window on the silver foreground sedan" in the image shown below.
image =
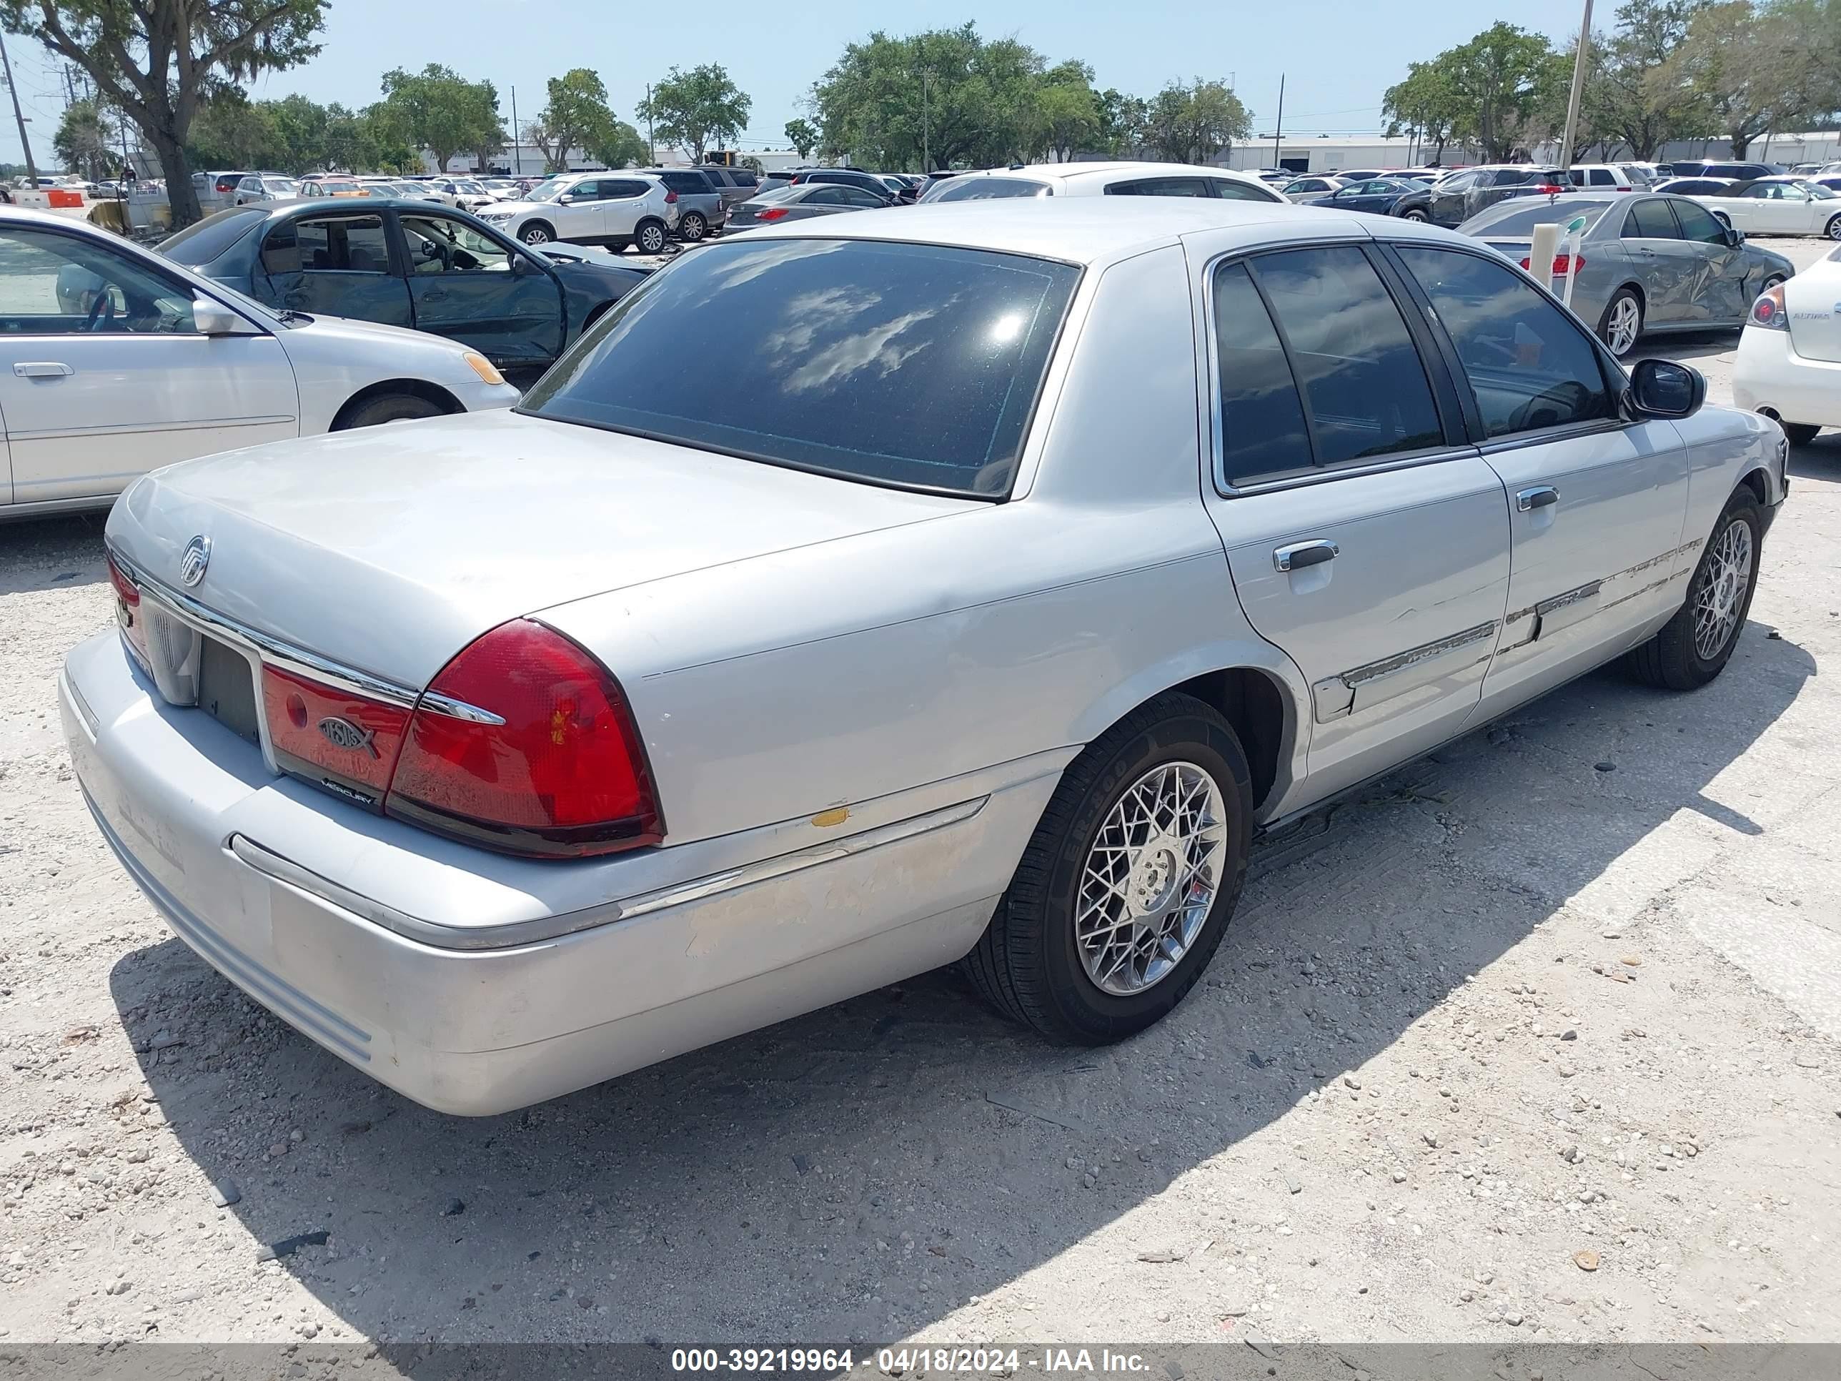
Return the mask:
POLYGON ((1508 615, 1480 716, 1631 646, 1681 602, 1686 447, 1626 422, 1624 377, 1554 300, 1482 252, 1394 245, 1471 389, 1513 534, 1508 615))

